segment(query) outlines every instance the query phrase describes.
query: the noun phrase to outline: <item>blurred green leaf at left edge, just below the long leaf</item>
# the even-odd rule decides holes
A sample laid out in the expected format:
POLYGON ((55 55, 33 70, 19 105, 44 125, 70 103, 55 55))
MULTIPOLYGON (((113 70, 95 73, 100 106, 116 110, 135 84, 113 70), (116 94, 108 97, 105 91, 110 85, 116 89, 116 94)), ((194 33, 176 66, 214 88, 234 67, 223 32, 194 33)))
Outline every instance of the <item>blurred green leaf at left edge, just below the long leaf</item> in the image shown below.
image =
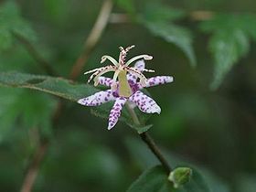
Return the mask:
POLYGON ((39 128, 42 135, 51 134, 51 116, 56 101, 45 94, 35 94, 25 90, 0 89, 0 138, 19 127, 39 128))

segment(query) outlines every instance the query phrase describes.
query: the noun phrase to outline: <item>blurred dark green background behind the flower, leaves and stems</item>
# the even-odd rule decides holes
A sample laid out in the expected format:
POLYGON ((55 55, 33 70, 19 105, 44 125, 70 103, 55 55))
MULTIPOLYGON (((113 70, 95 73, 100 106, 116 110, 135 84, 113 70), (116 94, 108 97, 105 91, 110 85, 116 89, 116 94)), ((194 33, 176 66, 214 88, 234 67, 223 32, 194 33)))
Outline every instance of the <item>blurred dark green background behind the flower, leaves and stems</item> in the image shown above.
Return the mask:
MULTIPOLYGON (((52 69, 65 78, 69 77, 70 69, 80 55, 102 3, 93 0, 16 0, 22 18, 34 31, 28 36, 29 40, 51 63, 52 69)), ((1 5, 4 4, 5 1, 1 1, 1 5)), ((149 132, 155 142, 171 158, 208 169, 224 187, 229 187, 229 191, 254 192, 255 42, 251 42, 247 55, 233 62, 235 65, 219 88, 212 91, 209 85, 213 80, 215 61, 208 51, 211 35, 199 27, 204 18, 193 19, 191 13, 198 10, 227 15, 255 13, 256 2, 114 2, 112 13, 127 14, 129 20, 108 23, 83 71, 100 67, 104 54, 117 58, 119 46, 136 46, 129 52, 129 57, 144 53, 153 55, 147 68, 155 69, 156 75, 175 78, 174 83, 148 90, 162 108, 160 115, 154 114, 149 120, 154 124, 149 132), (159 12, 155 19, 160 23, 161 19, 169 18, 165 14, 160 16, 161 8, 169 7, 170 13, 173 9, 177 14, 180 11, 180 19, 177 16, 177 21, 170 22, 186 27, 186 32, 191 35, 185 37, 193 40, 196 68, 191 67, 193 61, 188 59, 183 48, 168 42, 165 37, 155 36, 144 20, 136 20, 150 17, 156 6, 159 12)), ((251 23, 253 26, 256 26, 256 20, 251 23)), ((11 47, 1 51, 0 70, 46 74, 20 42, 13 40, 11 47)), ((85 83, 87 78, 80 74, 78 81, 85 83)), ((46 93, 1 87, 0 191, 20 190, 40 137, 47 137, 50 144, 33 191, 125 191, 146 167, 158 164, 138 134, 125 123, 120 122, 108 131, 107 120, 93 116, 90 108, 74 102, 65 101, 59 121, 52 125, 50 119, 57 102, 58 98, 46 93)))

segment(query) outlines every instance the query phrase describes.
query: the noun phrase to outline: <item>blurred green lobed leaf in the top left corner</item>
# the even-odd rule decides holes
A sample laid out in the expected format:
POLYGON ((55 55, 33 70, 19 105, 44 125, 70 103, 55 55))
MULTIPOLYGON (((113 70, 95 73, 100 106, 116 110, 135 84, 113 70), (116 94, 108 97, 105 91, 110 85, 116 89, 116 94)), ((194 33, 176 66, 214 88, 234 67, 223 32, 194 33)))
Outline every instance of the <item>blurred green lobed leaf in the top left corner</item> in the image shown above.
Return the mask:
POLYGON ((0 49, 10 48, 14 42, 14 34, 36 40, 36 33, 30 24, 22 18, 14 1, 6 1, 0 7, 0 49))

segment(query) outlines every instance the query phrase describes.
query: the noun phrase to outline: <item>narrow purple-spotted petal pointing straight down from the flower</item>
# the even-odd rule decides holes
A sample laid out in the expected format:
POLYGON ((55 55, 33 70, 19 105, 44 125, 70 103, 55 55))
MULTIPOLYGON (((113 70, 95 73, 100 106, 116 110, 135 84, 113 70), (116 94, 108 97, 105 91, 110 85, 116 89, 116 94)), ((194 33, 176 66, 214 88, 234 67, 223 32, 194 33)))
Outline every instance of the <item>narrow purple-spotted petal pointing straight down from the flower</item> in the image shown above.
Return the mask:
POLYGON ((109 126, 108 126, 108 130, 112 129, 112 127, 117 123, 118 118, 121 115, 121 111, 123 108, 124 103, 127 101, 126 98, 124 97, 119 97, 116 99, 116 101, 114 102, 113 106, 112 106, 112 111, 110 112, 110 116, 109 116, 109 126))

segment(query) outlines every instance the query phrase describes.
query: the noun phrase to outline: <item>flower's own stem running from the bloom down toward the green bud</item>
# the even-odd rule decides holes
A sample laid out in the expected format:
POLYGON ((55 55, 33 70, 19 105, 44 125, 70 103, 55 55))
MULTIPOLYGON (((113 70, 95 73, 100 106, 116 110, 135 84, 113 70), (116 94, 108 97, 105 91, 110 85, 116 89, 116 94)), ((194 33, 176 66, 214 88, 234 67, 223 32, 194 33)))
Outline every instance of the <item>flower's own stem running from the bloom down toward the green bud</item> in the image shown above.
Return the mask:
MULTIPOLYGON (((132 116, 133 122, 137 125, 141 125, 140 120, 134 110, 129 106, 129 104, 127 104, 126 106, 132 116)), ((165 156, 161 153, 158 146, 155 144, 154 139, 147 132, 140 133, 140 137, 144 141, 144 143, 147 144, 148 148, 156 156, 156 158, 161 162, 161 164, 165 168, 166 173, 169 174, 172 171, 172 168, 166 161, 165 156)))

